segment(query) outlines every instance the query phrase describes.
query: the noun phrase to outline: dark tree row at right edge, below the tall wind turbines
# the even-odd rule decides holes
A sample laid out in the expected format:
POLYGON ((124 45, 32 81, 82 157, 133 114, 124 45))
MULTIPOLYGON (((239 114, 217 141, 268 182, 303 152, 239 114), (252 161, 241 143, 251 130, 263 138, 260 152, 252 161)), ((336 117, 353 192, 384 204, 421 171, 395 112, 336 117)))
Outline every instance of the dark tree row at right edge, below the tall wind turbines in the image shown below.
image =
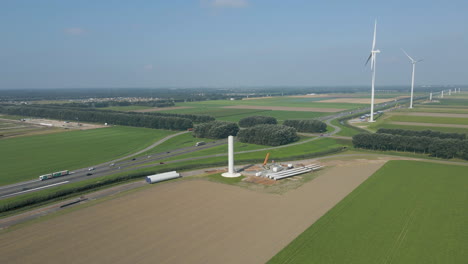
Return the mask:
POLYGON ((353 136, 353 145, 356 148, 411 151, 439 158, 468 160, 466 139, 361 133, 353 136))

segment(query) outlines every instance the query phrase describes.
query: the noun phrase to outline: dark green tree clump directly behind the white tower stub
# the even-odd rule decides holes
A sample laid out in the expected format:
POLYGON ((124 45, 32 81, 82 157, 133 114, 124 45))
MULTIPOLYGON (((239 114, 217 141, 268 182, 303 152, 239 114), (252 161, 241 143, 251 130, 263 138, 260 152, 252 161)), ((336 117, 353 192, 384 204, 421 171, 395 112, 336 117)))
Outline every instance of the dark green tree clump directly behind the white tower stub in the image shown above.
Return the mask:
POLYGON ((221 139, 228 136, 236 136, 239 126, 236 123, 224 121, 212 121, 195 125, 193 136, 197 138, 221 139))

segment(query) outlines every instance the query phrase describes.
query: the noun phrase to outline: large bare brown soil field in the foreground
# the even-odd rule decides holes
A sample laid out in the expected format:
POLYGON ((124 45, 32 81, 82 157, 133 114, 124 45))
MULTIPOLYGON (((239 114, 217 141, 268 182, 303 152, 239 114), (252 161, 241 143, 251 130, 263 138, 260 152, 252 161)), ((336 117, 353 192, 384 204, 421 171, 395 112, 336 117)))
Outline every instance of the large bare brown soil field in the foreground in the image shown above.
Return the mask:
POLYGON ((264 263, 384 163, 335 161, 283 195, 158 184, 2 233, 0 263, 264 263))

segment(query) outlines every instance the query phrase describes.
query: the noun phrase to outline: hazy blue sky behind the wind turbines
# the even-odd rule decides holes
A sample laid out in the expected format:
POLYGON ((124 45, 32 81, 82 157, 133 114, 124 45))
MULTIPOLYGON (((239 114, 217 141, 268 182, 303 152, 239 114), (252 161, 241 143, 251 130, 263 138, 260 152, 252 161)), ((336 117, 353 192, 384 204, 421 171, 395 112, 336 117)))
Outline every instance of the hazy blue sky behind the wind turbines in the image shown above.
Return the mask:
POLYGON ((468 1, 0 0, 0 89, 468 84, 468 1))

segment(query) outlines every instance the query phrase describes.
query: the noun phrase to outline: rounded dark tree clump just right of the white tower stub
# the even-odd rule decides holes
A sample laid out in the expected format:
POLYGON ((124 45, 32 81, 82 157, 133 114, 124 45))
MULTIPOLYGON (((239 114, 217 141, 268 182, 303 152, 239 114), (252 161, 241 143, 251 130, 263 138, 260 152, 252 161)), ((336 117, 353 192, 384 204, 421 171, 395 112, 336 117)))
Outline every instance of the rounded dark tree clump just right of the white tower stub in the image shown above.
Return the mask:
POLYGON ((237 139, 240 142, 279 146, 299 140, 295 128, 280 125, 257 125, 239 131, 237 139))

